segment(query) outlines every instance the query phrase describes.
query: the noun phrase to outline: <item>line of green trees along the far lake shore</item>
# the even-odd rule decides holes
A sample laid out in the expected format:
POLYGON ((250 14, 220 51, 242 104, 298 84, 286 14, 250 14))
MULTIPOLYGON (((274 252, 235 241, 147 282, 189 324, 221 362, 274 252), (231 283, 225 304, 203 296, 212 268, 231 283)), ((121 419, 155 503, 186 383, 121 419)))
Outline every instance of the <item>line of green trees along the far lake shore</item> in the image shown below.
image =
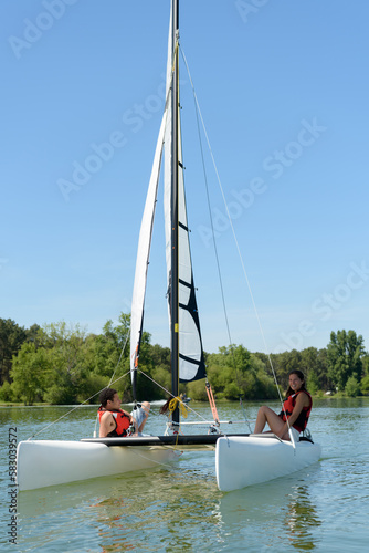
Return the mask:
MULTIPOLYGON (((114 387, 123 401, 131 401, 129 325, 130 316, 125 313, 117 324, 107 321, 102 334, 87 334, 80 325, 67 326, 65 322, 23 328, 10 319, 0 319, 0 400, 25 405, 98 403, 98 392, 114 375, 114 387)), ((218 353, 205 354, 205 363, 218 399, 277 398, 273 369, 282 394, 291 371, 299 369, 315 395, 369 395, 369 354, 355 331, 331 332, 323 349, 308 347, 271 356, 251 353, 242 344, 222 346, 218 353)), ((152 345, 147 332, 138 368, 138 399, 168 398, 170 349, 152 345)), ((180 392, 194 400, 207 399, 203 380, 181 384, 180 392)))

